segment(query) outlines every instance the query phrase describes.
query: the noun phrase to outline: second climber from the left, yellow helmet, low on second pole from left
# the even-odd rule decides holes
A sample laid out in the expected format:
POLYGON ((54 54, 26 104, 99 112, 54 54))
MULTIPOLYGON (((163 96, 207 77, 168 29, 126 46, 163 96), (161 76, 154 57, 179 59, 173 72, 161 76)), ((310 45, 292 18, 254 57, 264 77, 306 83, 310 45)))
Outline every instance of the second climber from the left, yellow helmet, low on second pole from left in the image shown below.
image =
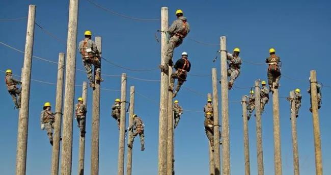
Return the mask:
POLYGON ((49 143, 53 145, 53 123, 55 120, 54 113, 51 111, 51 106, 49 102, 44 104, 43 110, 41 111, 40 115, 40 129, 47 131, 49 143))

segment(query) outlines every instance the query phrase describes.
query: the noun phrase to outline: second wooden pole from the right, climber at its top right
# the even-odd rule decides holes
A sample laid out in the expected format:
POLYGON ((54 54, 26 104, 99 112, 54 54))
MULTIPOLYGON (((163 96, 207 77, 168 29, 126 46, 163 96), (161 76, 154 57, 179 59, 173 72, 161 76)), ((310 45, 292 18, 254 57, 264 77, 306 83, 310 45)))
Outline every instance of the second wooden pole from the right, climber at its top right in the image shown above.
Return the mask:
POLYGON ((290 92, 291 104, 291 124, 292 124, 292 143, 293 143, 293 167, 294 175, 299 175, 299 153, 298 153, 298 139, 296 134, 296 116, 295 116, 295 94, 292 90, 290 92))

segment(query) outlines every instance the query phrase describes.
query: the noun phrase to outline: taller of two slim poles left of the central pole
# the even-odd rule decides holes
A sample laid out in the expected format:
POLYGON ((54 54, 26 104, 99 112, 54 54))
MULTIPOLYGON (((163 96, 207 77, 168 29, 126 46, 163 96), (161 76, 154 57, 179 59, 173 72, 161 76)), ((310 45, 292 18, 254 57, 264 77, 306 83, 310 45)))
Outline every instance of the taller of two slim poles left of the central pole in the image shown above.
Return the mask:
POLYGON ((118 175, 124 174, 124 141, 125 141, 125 111, 126 111, 126 73, 122 73, 121 81, 121 122, 118 148, 118 175))

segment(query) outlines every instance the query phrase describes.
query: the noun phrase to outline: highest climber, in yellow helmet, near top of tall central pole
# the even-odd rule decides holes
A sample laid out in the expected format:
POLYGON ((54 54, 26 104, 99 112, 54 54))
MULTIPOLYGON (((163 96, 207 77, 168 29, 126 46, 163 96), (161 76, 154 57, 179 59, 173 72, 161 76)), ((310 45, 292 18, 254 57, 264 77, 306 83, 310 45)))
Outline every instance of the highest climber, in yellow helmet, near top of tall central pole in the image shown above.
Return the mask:
MULTIPOLYGON (((176 11, 177 20, 175 20, 168 31, 166 32, 167 36, 170 36, 168 41, 168 49, 166 60, 164 61, 165 65, 160 65, 160 69, 163 72, 168 72, 168 66, 173 66, 173 54, 174 49, 182 44, 183 39, 189 33, 190 27, 187 22, 187 18, 183 16, 183 11, 178 9, 176 11)), ((164 31, 165 32, 165 31, 164 31)))

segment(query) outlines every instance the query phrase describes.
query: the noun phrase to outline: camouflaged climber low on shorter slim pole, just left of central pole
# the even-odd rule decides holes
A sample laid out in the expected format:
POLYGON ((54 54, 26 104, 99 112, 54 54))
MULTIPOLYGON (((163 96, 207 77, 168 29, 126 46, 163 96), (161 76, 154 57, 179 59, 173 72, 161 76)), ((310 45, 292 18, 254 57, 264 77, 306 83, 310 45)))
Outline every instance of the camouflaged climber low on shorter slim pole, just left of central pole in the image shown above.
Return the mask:
POLYGON ((133 134, 130 135, 130 138, 129 138, 129 141, 128 141, 128 147, 132 148, 132 144, 133 144, 133 141, 134 141, 134 137, 137 136, 139 134, 139 137, 140 137, 140 143, 141 143, 141 146, 142 146, 142 151, 145 150, 145 135, 144 135, 144 128, 145 128, 145 124, 143 122, 143 120, 138 117, 136 114, 133 114, 133 121, 132 121, 132 124, 130 125, 129 128, 127 128, 127 131, 130 131, 132 130, 133 134))

